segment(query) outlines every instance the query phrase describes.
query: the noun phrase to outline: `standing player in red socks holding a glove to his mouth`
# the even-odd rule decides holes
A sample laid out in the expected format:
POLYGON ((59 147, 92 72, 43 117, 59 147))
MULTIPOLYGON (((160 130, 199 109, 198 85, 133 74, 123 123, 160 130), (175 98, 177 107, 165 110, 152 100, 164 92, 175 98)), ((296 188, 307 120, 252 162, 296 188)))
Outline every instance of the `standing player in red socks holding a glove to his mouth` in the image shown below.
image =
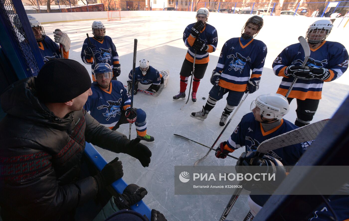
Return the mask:
POLYGON ((180 70, 179 94, 173 96, 173 100, 184 100, 185 90, 188 85, 188 78, 193 71, 194 55, 195 69, 193 79, 192 101, 196 102, 196 92, 200 84, 200 79, 205 74, 209 56, 208 53, 216 51, 218 43, 217 30, 214 26, 207 24, 209 11, 207 8, 199 8, 196 12, 196 23, 188 25, 183 32, 183 41, 188 47, 182 68, 180 70))

